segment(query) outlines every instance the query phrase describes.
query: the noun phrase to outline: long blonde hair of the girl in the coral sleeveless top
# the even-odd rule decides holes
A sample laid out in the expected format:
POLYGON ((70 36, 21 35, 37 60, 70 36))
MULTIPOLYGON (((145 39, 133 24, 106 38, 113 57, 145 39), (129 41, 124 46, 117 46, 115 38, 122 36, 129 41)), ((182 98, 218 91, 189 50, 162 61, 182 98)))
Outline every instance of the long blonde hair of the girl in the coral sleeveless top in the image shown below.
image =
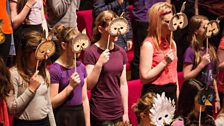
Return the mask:
MULTIPOLYGON (((172 5, 167 2, 158 2, 148 10, 148 35, 155 40, 157 49, 160 49, 161 32, 162 32, 162 17, 170 12, 172 13, 172 5)), ((167 36, 170 40, 170 36, 167 36)), ((174 43, 172 42, 174 48, 174 43)))

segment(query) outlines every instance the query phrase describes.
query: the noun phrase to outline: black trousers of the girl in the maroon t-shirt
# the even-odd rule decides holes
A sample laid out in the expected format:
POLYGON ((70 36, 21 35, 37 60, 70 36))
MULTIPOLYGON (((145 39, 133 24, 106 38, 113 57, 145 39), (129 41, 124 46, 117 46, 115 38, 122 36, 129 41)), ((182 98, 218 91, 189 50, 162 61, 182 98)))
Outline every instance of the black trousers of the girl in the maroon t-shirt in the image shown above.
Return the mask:
POLYGON ((122 118, 118 118, 115 120, 98 120, 92 114, 91 118, 91 126, 114 126, 117 122, 121 122, 122 118))

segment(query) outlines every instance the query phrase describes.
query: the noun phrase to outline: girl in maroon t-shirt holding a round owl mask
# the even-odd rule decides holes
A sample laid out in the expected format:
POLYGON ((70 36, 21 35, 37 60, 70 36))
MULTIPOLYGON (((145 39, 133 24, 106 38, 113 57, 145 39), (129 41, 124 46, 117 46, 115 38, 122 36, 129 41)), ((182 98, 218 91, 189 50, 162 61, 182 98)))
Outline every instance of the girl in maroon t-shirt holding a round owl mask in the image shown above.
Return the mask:
POLYGON ((97 16, 93 32, 96 43, 84 54, 87 84, 92 89, 91 126, 102 126, 108 121, 129 122, 126 52, 115 44, 115 36, 110 37, 107 49, 108 25, 115 17, 116 14, 111 10, 97 16))

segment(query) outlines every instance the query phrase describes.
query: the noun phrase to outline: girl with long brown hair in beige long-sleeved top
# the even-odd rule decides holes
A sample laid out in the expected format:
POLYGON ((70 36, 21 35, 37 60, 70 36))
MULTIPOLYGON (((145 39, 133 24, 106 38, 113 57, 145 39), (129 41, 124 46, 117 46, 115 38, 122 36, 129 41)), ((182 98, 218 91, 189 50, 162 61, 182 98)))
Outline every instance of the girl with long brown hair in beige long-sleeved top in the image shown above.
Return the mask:
POLYGON ((15 92, 6 98, 9 113, 14 115, 13 126, 56 126, 50 100, 50 75, 45 61, 36 71, 37 46, 46 41, 43 35, 27 33, 18 50, 16 65, 10 69, 15 92))

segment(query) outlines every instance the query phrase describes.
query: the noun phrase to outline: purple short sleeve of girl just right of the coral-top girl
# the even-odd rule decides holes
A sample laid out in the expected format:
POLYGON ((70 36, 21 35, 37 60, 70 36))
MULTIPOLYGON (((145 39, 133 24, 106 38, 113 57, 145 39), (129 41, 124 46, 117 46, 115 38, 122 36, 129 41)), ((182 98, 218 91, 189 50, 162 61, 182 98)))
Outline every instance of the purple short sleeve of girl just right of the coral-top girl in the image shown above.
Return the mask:
POLYGON ((195 59, 195 54, 191 47, 188 47, 184 54, 184 63, 186 64, 193 64, 195 59))

